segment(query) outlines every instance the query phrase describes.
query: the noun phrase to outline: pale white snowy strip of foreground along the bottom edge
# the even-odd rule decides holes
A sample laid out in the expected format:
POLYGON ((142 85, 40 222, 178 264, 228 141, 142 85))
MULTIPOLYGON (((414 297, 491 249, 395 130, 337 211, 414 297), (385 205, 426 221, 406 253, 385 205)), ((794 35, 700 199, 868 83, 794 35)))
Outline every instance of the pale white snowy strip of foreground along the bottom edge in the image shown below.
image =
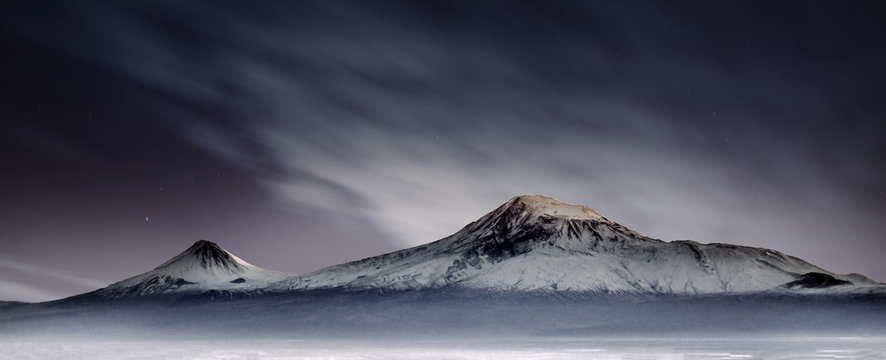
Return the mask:
POLYGON ((514 341, 0 340, 0 359, 884 359, 886 338, 535 338, 514 341))

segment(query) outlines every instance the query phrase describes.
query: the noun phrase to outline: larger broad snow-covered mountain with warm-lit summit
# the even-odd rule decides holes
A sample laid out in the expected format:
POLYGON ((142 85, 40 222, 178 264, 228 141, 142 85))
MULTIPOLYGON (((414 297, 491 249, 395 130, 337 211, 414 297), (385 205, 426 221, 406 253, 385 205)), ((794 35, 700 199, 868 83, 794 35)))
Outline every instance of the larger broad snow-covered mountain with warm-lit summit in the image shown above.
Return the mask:
POLYGON ((442 240, 272 287, 709 294, 852 284, 875 282, 770 249, 656 240, 586 206, 519 196, 442 240))

